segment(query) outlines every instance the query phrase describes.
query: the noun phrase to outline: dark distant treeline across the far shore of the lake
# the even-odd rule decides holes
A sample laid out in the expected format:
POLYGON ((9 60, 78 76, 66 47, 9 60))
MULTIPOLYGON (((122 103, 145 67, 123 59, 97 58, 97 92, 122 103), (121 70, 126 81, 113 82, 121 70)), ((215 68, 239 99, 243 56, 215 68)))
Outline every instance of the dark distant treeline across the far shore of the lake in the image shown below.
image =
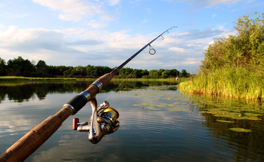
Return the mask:
MULTIPOLYGON (((32 61, 34 62, 34 61, 32 61)), ((0 58, 0 76, 26 76, 26 77, 77 77, 95 78, 111 72, 114 68, 108 66, 52 66, 39 60, 35 65, 28 59, 22 57, 10 59, 7 63, 0 58)), ((117 78, 129 75, 130 78, 168 78, 168 77, 188 77, 190 74, 185 69, 181 72, 176 69, 142 70, 133 68, 121 68, 115 74, 117 78), (130 75, 129 75, 130 74, 130 75)))

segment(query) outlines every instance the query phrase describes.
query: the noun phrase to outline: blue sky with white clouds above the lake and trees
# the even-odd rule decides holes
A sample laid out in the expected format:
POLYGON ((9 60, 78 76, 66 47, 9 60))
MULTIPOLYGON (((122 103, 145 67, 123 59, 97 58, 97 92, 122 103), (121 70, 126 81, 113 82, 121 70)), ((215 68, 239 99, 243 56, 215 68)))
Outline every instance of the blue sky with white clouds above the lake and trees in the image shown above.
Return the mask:
POLYGON ((0 57, 37 64, 119 66, 196 73, 213 38, 235 35, 239 16, 264 12, 258 0, 0 0, 0 57))

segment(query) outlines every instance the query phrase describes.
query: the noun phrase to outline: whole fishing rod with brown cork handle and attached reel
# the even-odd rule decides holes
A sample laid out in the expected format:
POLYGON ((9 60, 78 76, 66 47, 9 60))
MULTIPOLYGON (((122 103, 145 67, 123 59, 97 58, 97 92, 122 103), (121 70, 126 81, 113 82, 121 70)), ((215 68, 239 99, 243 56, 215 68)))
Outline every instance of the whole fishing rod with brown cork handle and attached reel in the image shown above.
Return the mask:
POLYGON ((110 73, 107 73, 98 79, 96 79, 86 90, 82 91, 77 96, 73 97, 70 101, 65 103, 56 114, 49 116, 47 119, 42 121, 38 126, 33 128, 22 138, 20 138, 16 143, 9 147, 4 153, 0 155, 0 161, 23 161, 29 155, 31 155, 35 150, 37 150, 48 138, 59 129, 63 121, 69 116, 76 114, 87 102, 90 102, 92 107, 92 115, 90 118, 90 125, 85 121, 79 123, 78 118, 73 119, 73 130, 78 130, 81 132, 89 132, 88 139, 91 143, 98 143, 101 139, 119 128, 119 113, 116 109, 111 108, 109 102, 105 101, 100 106, 97 106, 96 94, 98 94, 103 88, 105 88, 110 80, 113 78, 114 74, 123 66, 125 66, 129 61, 136 57, 148 46, 149 53, 154 55, 156 51, 151 47, 158 37, 164 39, 162 36, 165 32, 169 32, 173 26, 163 33, 159 34, 150 43, 144 46, 136 54, 128 58, 120 66, 115 68, 110 73))

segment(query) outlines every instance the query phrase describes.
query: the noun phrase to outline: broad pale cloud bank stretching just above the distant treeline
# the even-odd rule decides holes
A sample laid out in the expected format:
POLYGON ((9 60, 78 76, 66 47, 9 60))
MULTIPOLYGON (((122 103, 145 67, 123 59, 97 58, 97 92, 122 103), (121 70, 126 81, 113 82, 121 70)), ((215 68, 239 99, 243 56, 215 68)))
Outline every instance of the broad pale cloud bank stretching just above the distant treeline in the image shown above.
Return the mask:
MULTIPOLYGON (((214 37, 226 36, 234 31, 223 26, 187 32, 164 34, 164 40, 151 44, 156 50, 149 55, 147 47, 127 67, 142 69, 169 69, 176 67, 178 55, 179 70, 194 69, 201 64, 203 52, 214 37), (177 43, 178 42, 178 48, 177 43)), ((44 60, 48 65, 86 66, 102 65, 115 67, 131 57, 158 34, 130 35, 128 30, 109 32, 87 28, 65 30, 20 29, 10 26, 0 30, 0 53, 5 60, 21 56, 29 60, 44 60)))

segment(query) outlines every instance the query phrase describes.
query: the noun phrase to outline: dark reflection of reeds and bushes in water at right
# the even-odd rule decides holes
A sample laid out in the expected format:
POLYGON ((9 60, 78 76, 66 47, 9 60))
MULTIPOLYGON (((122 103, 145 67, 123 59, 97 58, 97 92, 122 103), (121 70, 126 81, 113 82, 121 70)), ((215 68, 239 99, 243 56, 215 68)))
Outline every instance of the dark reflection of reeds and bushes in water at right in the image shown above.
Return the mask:
POLYGON ((189 97, 191 107, 196 107, 205 116, 203 126, 208 128, 216 147, 232 148, 236 161, 262 161, 264 155, 264 106, 261 102, 189 97), (211 113, 218 110, 235 113, 225 117, 225 113, 211 113), (250 118, 243 115, 253 115, 250 118), (256 117, 257 116, 257 117, 256 117), (255 117, 255 118, 254 118, 255 117), (223 121, 232 121, 226 123, 223 121), (230 128, 249 129, 252 132, 235 132, 230 128))

